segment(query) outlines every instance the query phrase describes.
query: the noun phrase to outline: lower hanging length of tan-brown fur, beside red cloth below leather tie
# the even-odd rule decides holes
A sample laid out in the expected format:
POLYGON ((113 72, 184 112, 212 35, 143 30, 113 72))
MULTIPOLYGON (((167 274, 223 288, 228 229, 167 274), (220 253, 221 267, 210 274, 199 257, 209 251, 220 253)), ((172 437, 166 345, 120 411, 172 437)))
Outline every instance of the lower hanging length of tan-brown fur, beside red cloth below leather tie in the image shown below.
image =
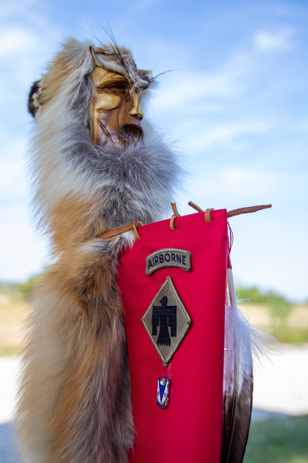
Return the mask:
POLYGON ((121 304, 99 245, 63 252, 37 290, 17 410, 24 462, 125 463, 133 445, 121 304))

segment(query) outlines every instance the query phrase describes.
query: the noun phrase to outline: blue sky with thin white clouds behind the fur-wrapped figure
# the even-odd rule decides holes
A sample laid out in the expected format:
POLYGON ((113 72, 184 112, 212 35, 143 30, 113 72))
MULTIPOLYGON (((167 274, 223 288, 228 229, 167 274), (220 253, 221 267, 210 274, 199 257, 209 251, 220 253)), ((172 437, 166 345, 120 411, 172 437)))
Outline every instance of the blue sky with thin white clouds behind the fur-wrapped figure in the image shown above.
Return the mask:
POLYGON ((188 200, 272 203, 230 219, 236 281, 307 300, 308 3, 296 0, 2 0, 0 279, 23 281, 48 262, 28 213, 27 92, 65 37, 90 36, 85 16, 102 41, 109 21, 139 67, 174 69, 146 113, 186 159, 180 213, 188 200))

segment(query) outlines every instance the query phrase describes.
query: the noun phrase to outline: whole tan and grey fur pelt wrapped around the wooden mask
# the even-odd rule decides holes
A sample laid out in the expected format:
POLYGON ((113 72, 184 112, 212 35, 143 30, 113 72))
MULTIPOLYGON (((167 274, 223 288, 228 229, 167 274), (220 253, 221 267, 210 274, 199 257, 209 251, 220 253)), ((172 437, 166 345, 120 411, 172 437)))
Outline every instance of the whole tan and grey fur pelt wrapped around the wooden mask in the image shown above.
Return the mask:
POLYGON ((33 299, 19 389, 18 435, 29 463, 127 462, 134 429, 115 271, 134 238, 96 236, 133 218, 162 219, 181 176, 146 123, 144 144, 93 145, 91 47, 66 41, 36 85, 33 207, 53 263, 33 299))

